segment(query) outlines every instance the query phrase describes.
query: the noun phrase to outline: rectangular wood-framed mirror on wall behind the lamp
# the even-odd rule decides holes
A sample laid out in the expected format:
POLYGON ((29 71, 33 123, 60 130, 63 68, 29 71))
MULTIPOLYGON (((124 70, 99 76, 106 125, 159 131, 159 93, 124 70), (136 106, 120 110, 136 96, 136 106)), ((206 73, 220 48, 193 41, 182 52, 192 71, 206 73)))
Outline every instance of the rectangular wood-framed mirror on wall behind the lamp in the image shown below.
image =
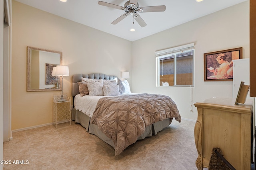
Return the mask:
POLYGON ((62 52, 27 47, 27 92, 61 91, 60 78, 52 75, 62 65, 62 52))

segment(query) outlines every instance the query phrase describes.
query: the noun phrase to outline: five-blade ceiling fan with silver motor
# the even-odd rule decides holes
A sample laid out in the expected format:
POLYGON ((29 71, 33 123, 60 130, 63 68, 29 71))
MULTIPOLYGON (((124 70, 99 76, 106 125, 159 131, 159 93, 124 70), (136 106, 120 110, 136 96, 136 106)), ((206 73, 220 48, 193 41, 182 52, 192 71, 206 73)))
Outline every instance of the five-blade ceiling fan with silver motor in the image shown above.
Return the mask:
POLYGON ((144 20, 142 20, 138 12, 163 12, 166 9, 166 6, 164 5, 139 7, 138 0, 128 0, 127 2, 125 2, 124 7, 102 1, 99 1, 98 4, 110 8, 124 10, 124 12, 126 12, 125 14, 114 20, 112 24, 117 24, 118 22, 126 18, 128 15, 130 15, 140 24, 141 27, 145 27, 147 24, 144 20))

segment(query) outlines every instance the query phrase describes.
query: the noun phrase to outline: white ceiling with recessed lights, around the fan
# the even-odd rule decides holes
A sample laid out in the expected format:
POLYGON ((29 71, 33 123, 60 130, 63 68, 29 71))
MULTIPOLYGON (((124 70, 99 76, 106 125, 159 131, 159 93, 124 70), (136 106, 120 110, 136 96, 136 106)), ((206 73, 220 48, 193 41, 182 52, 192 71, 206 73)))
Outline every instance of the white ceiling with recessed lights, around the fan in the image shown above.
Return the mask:
MULTIPOLYGON (((166 30, 187 21, 228 8, 246 0, 138 0, 140 7, 165 5, 164 12, 139 13, 147 23, 140 27, 132 16, 127 16, 116 25, 111 22, 124 14, 124 11, 98 5, 98 0, 16 0, 34 8, 50 12, 118 37, 135 41, 154 33, 166 30), (136 31, 131 32, 134 28, 136 31)), ((111 4, 124 6, 127 0, 102 0, 111 4)))

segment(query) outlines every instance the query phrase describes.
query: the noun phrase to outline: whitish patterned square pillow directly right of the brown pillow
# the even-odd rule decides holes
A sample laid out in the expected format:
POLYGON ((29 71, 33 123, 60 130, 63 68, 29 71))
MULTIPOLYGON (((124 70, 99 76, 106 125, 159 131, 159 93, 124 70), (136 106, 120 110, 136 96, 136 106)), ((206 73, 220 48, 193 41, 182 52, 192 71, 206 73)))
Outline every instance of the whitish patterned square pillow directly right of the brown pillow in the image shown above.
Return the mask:
POLYGON ((86 80, 89 90, 89 96, 104 96, 103 93, 103 80, 86 80))

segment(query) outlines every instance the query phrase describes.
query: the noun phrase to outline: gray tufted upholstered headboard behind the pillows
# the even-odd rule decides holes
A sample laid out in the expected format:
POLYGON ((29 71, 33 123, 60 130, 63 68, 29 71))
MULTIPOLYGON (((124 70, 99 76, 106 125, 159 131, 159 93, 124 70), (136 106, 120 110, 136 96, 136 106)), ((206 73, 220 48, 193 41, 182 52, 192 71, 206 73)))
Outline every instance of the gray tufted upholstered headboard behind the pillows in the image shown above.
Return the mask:
POLYGON ((106 74, 100 74, 100 73, 74 74, 72 76, 72 96, 73 96, 73 99, 77 94, 79 94, 79 86, 78 86, 77 82, 82 81, 81 77, 90 78, 90 79, 103 79, 103 80, 114 80, 116 78, 116 76, 108 76, 106 74))

